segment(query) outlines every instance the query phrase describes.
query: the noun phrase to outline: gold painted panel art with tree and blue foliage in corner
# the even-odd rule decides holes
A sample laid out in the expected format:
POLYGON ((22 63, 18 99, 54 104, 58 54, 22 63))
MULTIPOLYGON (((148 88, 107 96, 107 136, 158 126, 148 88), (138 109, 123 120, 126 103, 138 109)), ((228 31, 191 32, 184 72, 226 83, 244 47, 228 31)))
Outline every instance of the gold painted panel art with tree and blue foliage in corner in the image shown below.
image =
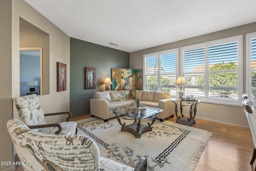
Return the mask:
POLYGON ((112 68, 112 90, 142 90, 142 69, 112 68))

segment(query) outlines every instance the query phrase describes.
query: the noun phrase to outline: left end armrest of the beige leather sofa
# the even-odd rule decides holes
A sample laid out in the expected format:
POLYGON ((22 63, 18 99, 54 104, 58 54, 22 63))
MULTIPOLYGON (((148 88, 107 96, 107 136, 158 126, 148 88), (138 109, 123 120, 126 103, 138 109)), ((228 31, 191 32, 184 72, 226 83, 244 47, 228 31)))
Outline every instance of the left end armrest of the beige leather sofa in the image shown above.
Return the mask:
POLYGON ((109 101, 103 99, 90 99, 91 115, 102 119, 109 119, 109 101))

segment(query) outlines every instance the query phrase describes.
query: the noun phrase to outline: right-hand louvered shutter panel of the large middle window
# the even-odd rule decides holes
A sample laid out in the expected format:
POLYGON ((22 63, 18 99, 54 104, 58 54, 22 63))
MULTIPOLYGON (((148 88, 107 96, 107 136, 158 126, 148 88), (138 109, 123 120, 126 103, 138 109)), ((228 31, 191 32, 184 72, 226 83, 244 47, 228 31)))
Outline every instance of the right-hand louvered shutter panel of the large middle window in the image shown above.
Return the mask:
POLYGON ((209 46, 209 97, 232 98, 238 95, 238 42, 209 46))

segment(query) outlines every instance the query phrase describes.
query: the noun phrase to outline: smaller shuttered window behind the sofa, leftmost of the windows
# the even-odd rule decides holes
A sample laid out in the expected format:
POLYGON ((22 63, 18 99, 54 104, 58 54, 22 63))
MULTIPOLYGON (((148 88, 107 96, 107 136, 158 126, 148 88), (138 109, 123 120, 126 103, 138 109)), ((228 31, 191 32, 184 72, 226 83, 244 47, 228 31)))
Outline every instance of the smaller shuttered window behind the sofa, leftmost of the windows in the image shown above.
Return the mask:
POLYGON ((178 48, 144 55, 144 90, 176 94, 178 48))

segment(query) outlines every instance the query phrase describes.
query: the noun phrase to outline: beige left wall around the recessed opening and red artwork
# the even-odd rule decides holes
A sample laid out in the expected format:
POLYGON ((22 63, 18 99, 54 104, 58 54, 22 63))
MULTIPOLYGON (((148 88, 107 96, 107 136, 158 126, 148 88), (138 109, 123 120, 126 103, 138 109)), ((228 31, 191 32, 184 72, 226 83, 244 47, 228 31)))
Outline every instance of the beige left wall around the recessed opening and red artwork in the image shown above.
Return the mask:
MULTIPOLYGON (((50 94, 40 95, 40 104, 44 113, 57 112, 57 111, 69 111, 69 94, 70 94, 70 37, 52 24, 49 20, 44 18, 34 8, 29 6, 23 0, 14 0, 13 5, 13 97, 18 97, 20 94, 19 89, 19 48, 20 48, 20 28, 19 18, 30 22, 37 28, 43 30, 49 34, 49 79, 44 80, 44 84, 49 82, 50 94), (67 90, 56 91, 56 62, 62 62, 67 64, 67 90)), ((45 73, 45 72, 44 72, 45 73)), ((16 109, 14 110, 14 117, 16 115, 16 109)), ((52 121, 58 121, 58 119, 51 119, 52 121)))

